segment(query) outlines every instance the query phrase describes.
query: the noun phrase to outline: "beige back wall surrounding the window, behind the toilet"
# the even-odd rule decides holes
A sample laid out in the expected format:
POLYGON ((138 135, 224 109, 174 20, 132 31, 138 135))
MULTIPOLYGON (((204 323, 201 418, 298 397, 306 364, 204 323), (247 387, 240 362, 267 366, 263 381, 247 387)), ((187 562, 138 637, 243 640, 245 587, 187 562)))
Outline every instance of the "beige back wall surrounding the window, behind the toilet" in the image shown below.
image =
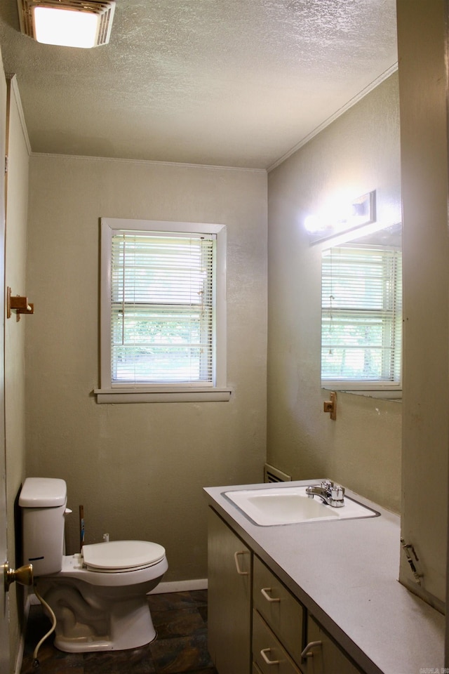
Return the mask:
POLYGON ((260 482, 266 446, 264 171, 33 156, 27 292, 27 475, 67 480, 69 551, 166 547, 167 581, 206 578, 201 488, 260 482), (230 402, 98 405, 100 217, 227 225, 230 402))

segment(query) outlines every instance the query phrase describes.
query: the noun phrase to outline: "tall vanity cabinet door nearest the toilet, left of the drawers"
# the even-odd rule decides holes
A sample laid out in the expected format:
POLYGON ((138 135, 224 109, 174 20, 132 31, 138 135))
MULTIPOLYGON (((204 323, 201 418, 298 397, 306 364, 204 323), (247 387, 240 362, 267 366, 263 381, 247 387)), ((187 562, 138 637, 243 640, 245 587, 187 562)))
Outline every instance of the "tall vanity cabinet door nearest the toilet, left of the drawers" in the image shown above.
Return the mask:
POLYGON ((251 668, 251 553, 208 512, 208 648, 218 674, 251 668))

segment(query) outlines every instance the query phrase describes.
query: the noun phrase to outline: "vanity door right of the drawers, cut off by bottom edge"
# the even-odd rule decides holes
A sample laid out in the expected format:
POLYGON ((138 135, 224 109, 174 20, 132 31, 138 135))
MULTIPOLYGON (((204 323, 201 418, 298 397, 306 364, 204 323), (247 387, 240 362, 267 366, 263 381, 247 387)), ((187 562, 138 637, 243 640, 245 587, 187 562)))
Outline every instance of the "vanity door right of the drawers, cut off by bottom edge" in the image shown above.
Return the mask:
POLYGON ((307 674, 363 674, 311 616, 307 618, 307 641, 311 644, 307 674))

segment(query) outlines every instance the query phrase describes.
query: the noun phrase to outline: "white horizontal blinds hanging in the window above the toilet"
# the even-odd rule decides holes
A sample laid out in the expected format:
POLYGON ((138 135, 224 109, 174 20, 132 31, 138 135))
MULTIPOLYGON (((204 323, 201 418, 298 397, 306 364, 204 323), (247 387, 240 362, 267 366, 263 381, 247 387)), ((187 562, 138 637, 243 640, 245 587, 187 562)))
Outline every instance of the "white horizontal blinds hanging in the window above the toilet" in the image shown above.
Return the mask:
POLYGON ((112 236, 112 383, 213 385, 215 235, 112 236))

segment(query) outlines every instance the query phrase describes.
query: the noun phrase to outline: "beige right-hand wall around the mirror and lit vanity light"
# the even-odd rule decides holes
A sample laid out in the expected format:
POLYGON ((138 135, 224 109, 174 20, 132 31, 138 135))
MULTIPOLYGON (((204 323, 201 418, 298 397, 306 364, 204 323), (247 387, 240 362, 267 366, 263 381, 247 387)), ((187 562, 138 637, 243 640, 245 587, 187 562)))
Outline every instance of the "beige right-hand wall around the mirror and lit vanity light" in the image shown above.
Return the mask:
MULTIPOLYGON (((339 393, 323 413, 321 251, 304 218, 376 190, 377 220, 401 220, 398 77, 389 77, 269 173, 267 458, 294 479, 331 477, 401 505, 401 403, 339 393)), ((328 244, 326 244, 328 245, 328 244)))

